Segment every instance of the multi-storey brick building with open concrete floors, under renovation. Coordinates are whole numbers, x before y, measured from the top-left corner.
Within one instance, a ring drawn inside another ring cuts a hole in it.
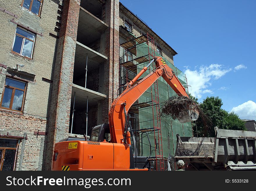
[[[148,32],[171,65],[177,54],[118,0],[0,0],[0,10],[0,170],[50,170],[56,142],[108,123],[120,44]]]

